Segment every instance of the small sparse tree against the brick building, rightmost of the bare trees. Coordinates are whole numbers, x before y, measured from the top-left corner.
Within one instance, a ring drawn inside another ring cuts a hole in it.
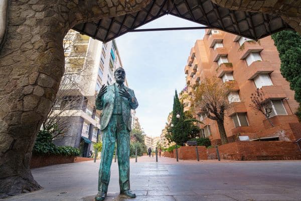
[[[251,101],[252,103],[250,104],[250,108],[255,112],[255,114],[258,111],[261,112],[268,120],[270,125],[274,127],[272,121],[270,120],[270,115],[273,112],[271,98],[265,97],[262,88],[257,88],[255,93],[251,93]]]

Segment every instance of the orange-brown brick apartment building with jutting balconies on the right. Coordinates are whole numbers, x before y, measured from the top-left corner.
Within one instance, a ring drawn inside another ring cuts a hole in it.
[[[253,41],[219,30],[206,30],[203,40],[192,47],[185,66],[184,93],[193,90],[205,77],[216,76],[221,82],[234,85],[228,94],[231,109],[226,111],[225,130],[229,142],[239,139],[295,141],[300,137],[301,125],[294,115],[298,103],[294,91],[280,74],[280,59],[270,36]],[[251,93],[262,89],[265,97],[272,98],[270,120],[251,108]],[[185,110],[189,101],[185,100]],[[199,125],[202,136],[209,137],[213,144],[220,144],[220,135],[215,121],[201,111],[194,111],[204,124]],[[240,137],[245,136],[245,137]]]

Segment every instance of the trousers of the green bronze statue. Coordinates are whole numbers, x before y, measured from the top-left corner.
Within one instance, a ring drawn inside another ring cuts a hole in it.
[[[129,131],[122,120],[122,115],[113,114],[107,128],[103,130],[98,191],[107,192],[108,190],[116,141],[120,191],[129,189]]]

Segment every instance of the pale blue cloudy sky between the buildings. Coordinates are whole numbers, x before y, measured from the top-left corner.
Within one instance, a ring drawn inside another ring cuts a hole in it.
[[[138,29],[199,26],[169,15]],[[116,39],[129,88],[139,103],[136,117],[146,135],[161,135],[173,110],[175,89],[185,87],[190,50],[204,34],[204,30],[136,32]]]

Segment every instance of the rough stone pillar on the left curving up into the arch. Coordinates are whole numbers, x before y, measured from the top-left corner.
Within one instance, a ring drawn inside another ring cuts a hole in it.
[[[0,49],[0,198],[41,188],[29,163],[36,132],[64,73],[62,44],[67,31],[81,23],[140,11],[154,1],[9,1]]]

